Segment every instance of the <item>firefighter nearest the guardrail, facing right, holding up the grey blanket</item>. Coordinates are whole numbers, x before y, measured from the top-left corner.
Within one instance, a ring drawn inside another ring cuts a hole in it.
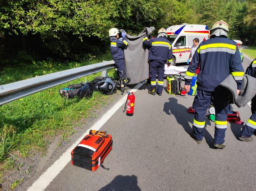
[[[128,46],[127,38],[125,37],[125,33],[122,33],[123,40],[119,39],[119,30],[117,28],[111,28],[109,30],[110,37],[110,51],[115,61],[117,73],[119,79],[124,77],[124,83],[126,83],[126,70],[124,64],[124,47]]]

